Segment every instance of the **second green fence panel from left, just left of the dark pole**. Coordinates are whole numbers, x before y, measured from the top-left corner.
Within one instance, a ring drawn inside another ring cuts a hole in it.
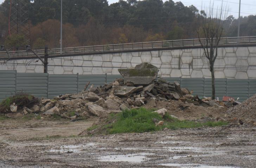
[[[47,73],[17,73],[17,93],[29,93],[35,97],[47,98]]]

